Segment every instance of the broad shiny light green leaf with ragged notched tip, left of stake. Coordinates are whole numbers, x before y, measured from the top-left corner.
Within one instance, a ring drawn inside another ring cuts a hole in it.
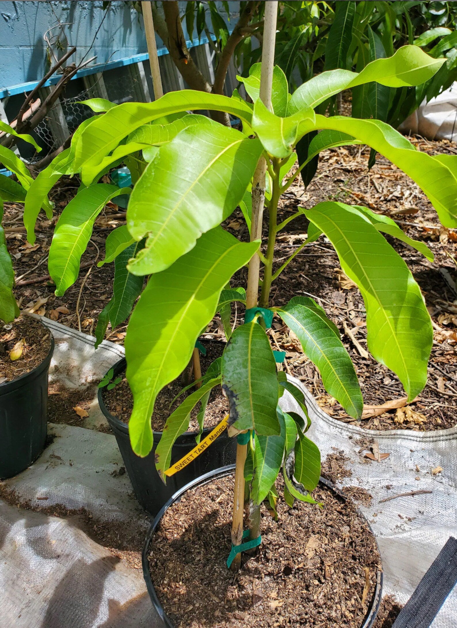
[[[129,232],[136,240],[148,235],[129,271],[168,268],[226,219],[243,198],[261,152],[260,142],[221,124],[189,127],[162,146],[129,200]]]

